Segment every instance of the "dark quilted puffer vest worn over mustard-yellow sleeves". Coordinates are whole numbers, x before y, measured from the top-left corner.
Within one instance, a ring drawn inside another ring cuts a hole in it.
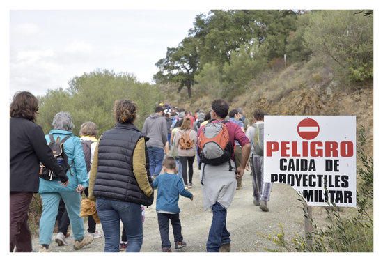
[[[102,134],[98,145],[98,167],[93,194],[150,206],[153,194],[143,194],[133,173],[133,151],[143,134],[134,125],[118,123]],[[153,188],[149,171],[149,157],[145,146],[146,173]]]

